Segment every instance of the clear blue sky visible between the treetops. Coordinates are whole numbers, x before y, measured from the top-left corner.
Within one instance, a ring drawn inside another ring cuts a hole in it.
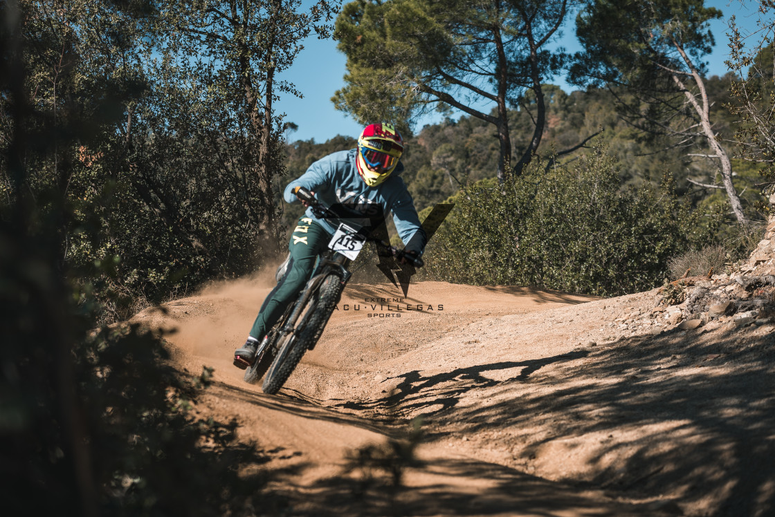
[[[302,2],[303,5],[311,3],[311,0]],[[736,15],[738,25],[743,29],[754,27],[758,2],[708,0],[705,5],[720,9],[724,13],[724,19],[711,23],[716,45],[713,53],[708,56],[711,75],[723,75],[728,71],[724,64],[729,52],[725,36],[728,30],[727,19],[730,15]],[[570,17],[571,24],[563,30],[563,39],[558,43],[570,51],[577,50],[578,47],[572,25],[573,19],[574,17]],[[298,125],[298,130],[291,132],[288,139],[290,141],[315,139],[315,142],[325,142],[335,135],[357,136],[362,126],[343,111],[334,109],[331,102],[334,92],[343,86],[346,57],[336,50],[336,42],[330,39],[321,40],[311,36],[304,42],[304,46],[305,49],[301,51],[293,66],[281,76],[284,80],[294,83],[298,91],[304,94],[304,98],[299,99],[291,94],[284,94],[275,104],[278,112],[284,112],[287,115],[288,122]],[[563,90],[570,91],[570,87],[561,78],[553,82],[563,87]],[[439,118],[431,115],[419,122],[418,128],[434,122],[439,122]]]

